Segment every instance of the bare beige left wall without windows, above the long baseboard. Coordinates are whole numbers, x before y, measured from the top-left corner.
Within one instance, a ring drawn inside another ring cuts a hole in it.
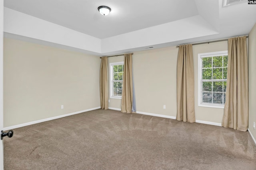
[[[4,127],[100,106],[99,68],[96,56],[5,38]]]

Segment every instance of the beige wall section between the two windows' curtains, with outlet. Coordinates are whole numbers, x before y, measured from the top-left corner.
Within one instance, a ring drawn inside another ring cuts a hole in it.
[[[177,54],[176,47],[134,53],[137,111],[176,116]]]

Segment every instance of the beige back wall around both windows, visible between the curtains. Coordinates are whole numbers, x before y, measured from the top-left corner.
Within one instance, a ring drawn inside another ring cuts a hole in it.
[[[198,106],[198,53],[228,50],[227,41],[193,46],[196,120],[221,123],[223,109]],[[176,116],[176,64],[178,48],[134,52],[134,85],[138,112]],[[110,57],[109,62],[123,61]],[[163,109],[166,105],[166,109]],[[110,107],[121,108],[121,100],[110,99]]]

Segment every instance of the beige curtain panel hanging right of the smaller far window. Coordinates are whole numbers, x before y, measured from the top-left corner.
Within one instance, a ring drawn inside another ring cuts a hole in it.
[[[124,75],[123,75],[121,112],[132,113],[132,102],[133,102],[132,54],[124,54]]]

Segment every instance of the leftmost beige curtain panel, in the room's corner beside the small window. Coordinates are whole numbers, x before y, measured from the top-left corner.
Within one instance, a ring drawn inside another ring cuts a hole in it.
[[[108,109],[108,57],[100,63],[100,108]]]

